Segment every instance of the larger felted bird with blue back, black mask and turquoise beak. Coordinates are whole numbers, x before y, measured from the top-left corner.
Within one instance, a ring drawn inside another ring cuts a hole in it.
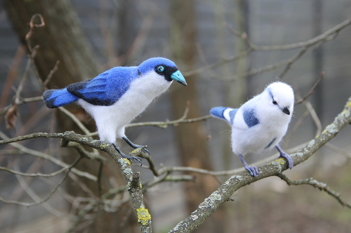
[[[113,144],[123,157],[136,159],[141,165],[139,157],[127,156],[117,147],[116,138],[123,138],[133,148],[142,147],[125,136],[124,128],[167,90],[172,80],[187,85],[173,61],[153,57],[139,66],[117,66],[64,89],[47,90],[43,97],[49,108],[77,101],[95,119],[100,139]]]

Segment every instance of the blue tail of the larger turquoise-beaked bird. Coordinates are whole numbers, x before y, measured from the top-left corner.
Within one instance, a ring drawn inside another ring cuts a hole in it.
[[[43,93],[45,104],[49,108],[61,107],[78,100],[78,97],[64,89],[51,89]]]

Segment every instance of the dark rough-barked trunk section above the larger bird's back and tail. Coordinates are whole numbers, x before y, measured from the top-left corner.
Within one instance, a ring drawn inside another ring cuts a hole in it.
[[[44,80],[57,60],[59,69],[54,73],[49,87],[65,85],[95,77],[98,68],[85,41],[78,17],[69,0],[1,0],[20,42],[27,45],[26,34],[32,16],[40,13],[44,27],[35,28],[30,45],[39,45],[35,64]]]

